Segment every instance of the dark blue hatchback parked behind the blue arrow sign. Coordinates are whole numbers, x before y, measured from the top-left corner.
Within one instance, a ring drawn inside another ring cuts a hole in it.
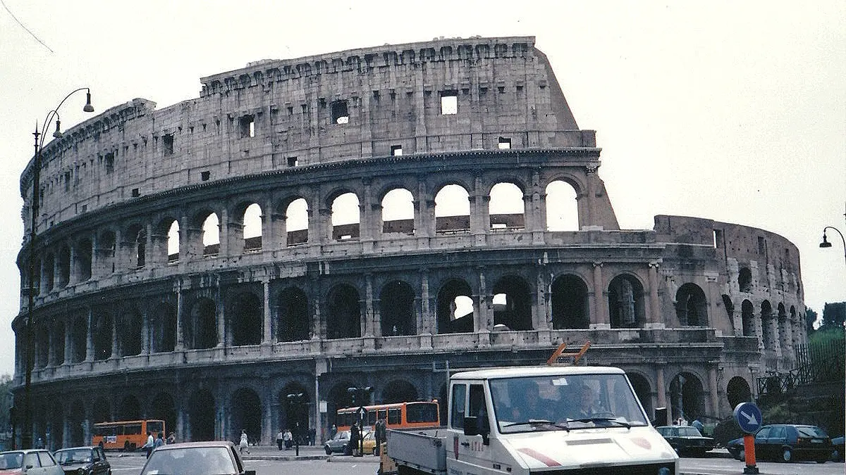
[[[729,440],[728,452],[744,460],[744,440]],[[825,463],[832,456],[832,440],[826,431],[814,425],[770,424],[755,433],[755,459],[813,460]]]

